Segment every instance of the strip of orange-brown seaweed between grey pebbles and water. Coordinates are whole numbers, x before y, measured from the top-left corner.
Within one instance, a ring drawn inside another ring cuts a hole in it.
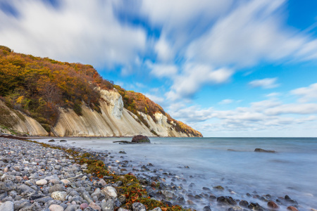
[[[152,200],[148,194],[147,191],[142,187],[137,177],[135,177],[133,174],[125,174],[122,176],[119,176],[117,174],[113,174],[112,172],[109,172],[106,168],[106,165],[102,160],[98,160],[94,155],[90,153],[80,153],[78,151],[74,151],[72,149],[66,149],[64,147],[60,146],[51,146],[47,143],[39,143],[37,141],[30,141],[30,140],[24,140],[29,141],[32,143],[38,143],[39,145],[46,147],[46,148],[54,148],[61,151],[65,151],[69,155],[73,156],[73,159],[75,159],[75,162],[77,162],[80,165],[87,165],[87,174],[92,174],[92,177],[95,177],[95,179],[103,178],[104,176],[112,176],[113,179],[111,180],[111,183],[115,183],[116,181],[122,181],[123,185],[116,188],[119,195],[124,195],[126,198],[126,203],[123,205],[128,210],[132,210],[132,204],[133,203],[142,203],[145,207],[147,207],[147,210],[153,210],[155,207],[161,207],[163,211],[182,211],[185,210],[179,205],[175,205],[172,207],[169,207],[166,203],[163,203],[159,200]]]

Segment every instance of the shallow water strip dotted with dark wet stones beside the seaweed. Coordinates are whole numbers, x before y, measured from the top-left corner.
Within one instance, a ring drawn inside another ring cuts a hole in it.
[[[45,137],[46,138],[46,137]],[[58,137],[61,139],[62,137]],[[45,143],[40,143],[44,144]],[[65,144],[65,143],[63,143]],[[52,145],[53,148],[55,147],[62,147],[62,148],[71,148],[72,151],[82,151],[82,152],[89,152],[94,155],[102,155],[101,159],[104,160],[104,163],[108,165],[108,169],[111,171],[115,171],[117,175],[116,177],[120,177],[121,175],[126,175],[129,172],[137,175],[137,181],[139,182],[140,186],[146,189],[145,194],[150,198],[154,199],[154,203],[158,202],[157,200],[161,200],[162,203],[165,205],[169,205],[168,210],[171,209],[173,205],[182,205],[184,208],[188,209],[197,209],[197,210],[209,210],[212,207],[212,210],[239,210],[241,209],[253,209],[253,210],[268,210],[270,207],[268,206],[261,206],[256,201],[263,200],[265,203],[269,201],[276,201],[281,207],[284,207],[286,210],[287,205],[292,204],[294,207],[298,207],[295,204],[295,201],[285,198],[274,198],[274,196],[266,195],[266,196],[259,196],[257,193],[251,193],[250,197],[245,200],[238,200],[235,198],[234,192],[232,191],[232,196],[223,195],[223,191],[221,190],[222,187],[204,187],[199,193],[192,192],[187,186],[191,186],[194,184],[188,184],[189,181],[185,181],[185,179],[178,177],[173,172],[169,170],[157,170],[156,167],[151,165],[151,163],[142,165],[137,167],[135,162],[129,160],[129,155],[125,155],[124,152],[104,152],[101,153],[100,151],[94,151],[89,149],[82,149],[82,148],[75,148],[73,146],[61,146],[58,144]],[[117,162],[119,160],[123,160]],[[113,172],[112,172],[113,173]],[[182,182],[184,186],[178,186],[178,182]],[[278,199],[279,201],[277,201]],[[254,202],[254,203],[252,203]],[[163,205],[164,206],[164,205]],[[251,207],[249,207],[251,206]],[[292,207],[293,207],[292,206]],[[300,205],[299,205],[300,207]]]

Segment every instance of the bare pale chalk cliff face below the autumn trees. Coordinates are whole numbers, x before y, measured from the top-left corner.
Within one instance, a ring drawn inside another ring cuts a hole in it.
[[[48,133],[34,119],[20,113],[20,111],[7,108],[0,101],[1,110],[6,110],[6,116],[11,119],[12,129],[18,132],[46,136]],[[101,90],[100,111],[82,106],[82,115],[77,115],[74,110],[59,108],[58,121],[51,129],[55,136],[134,136],[138,134],[147,136],[176,136],[187,137],[191,134],[177,132],[173,123],[168,124],[167,117],[155,113],[154,121],[149,115],[139,112],[149,127],[139,121],[138,117],[123,108],[123,100],[117,91]],[[18,113],[19,115],[17,115]]]

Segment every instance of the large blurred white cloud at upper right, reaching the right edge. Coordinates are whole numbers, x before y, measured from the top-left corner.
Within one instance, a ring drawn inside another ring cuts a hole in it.
[[[262,60],[316,59],[317,40],[282,27],[278,1],[247,1],[223,16],[199,39],[187,57],[213,65],[256,65]]]

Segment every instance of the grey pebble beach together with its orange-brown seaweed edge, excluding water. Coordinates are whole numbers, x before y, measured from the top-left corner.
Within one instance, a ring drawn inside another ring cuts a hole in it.
[[[49,146],[35,141],[0,140],[3,149],[1,161],[4,161],[1,162],[0,171],[1,211],[124,211],[132,207],[140,211],[145,207],[149,210],[154,207],[182,210],[181,207],[168,207],[149,198],[133,174],[108,172],[101,161],[106,155],[101,153]],[[34,155],[37,155],[36,158]]]

